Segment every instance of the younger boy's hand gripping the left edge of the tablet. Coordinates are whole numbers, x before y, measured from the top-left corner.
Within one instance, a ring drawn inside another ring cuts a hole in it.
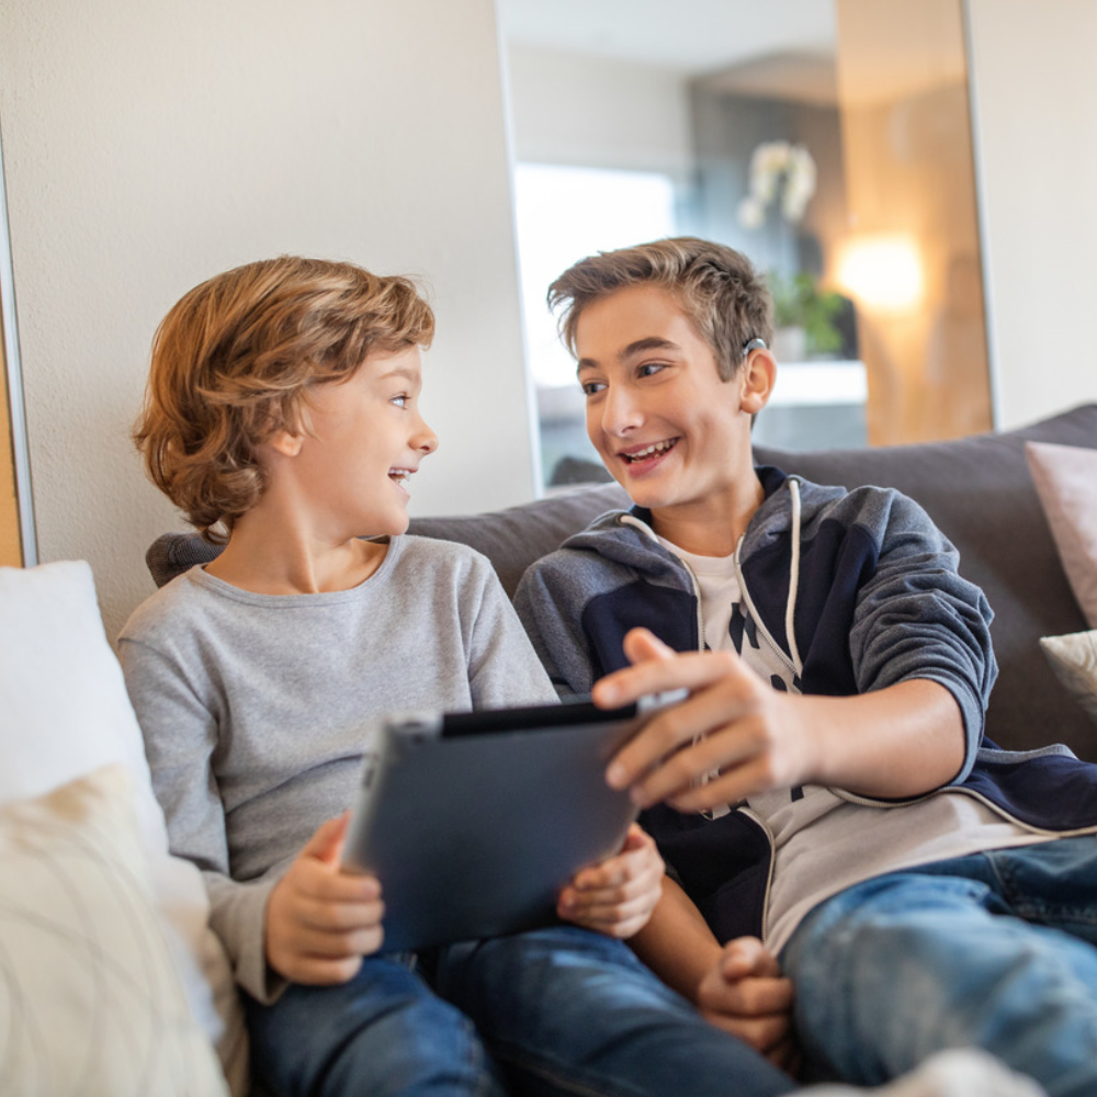
[[[339,868],[344,813],[317,828],[267,903],[267,961],[294,983],[346,983],[381,948],[381,884]]]

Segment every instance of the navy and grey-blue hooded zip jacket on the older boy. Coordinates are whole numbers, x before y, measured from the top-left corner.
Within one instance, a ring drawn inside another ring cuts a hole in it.
[[[939,682],[955,698],[966,737],[952,792],[1029,829],[1097,829],[1097,767],[1063,746],[1011,753],[984,740],[997,675],[991,608],[959,575],[959,554],[925,511],[892,489],[847,491],[778,468],[757,473],[766,498],[736,550],[742,642],[769,645],[802,693]],[[522,578],[514,604],[562,694],[588,693],[623,667],[630,629],[647,627],[680,652],[703,646],[693,576],[649,520],[640,508],[603,514]],[[753,813],[708,819],[657,806],[643,823],[719,940],[761,935],[772,840]]]

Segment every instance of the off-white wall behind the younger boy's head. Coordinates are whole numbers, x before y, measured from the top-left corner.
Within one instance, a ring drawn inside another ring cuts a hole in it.
[[[150,337],[240,262],[426,276],[412,512],[531,496],[491,0],[3,0],[0,125],[39,558],[91,562],[111,636],[182,525],[127,439]]]

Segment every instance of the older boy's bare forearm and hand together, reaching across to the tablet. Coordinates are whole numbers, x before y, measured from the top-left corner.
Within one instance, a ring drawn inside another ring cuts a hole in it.
[[[689,691],[657,712],[607,769],[609,783],[629,788],[641,807],[666,801],[692,812],[803,784],[918,796],[964,764],[960,706],[929,679],[856,697],[803,695],[772,689],[734,652],[675,655],[642,629],[625,637],[625,653],[633,666],[596,683],[599,704]]]

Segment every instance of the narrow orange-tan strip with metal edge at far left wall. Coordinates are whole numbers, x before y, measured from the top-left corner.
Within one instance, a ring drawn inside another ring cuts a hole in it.
[[[0,566],[31,566],[37,562],[29,470],[0,150]]]

